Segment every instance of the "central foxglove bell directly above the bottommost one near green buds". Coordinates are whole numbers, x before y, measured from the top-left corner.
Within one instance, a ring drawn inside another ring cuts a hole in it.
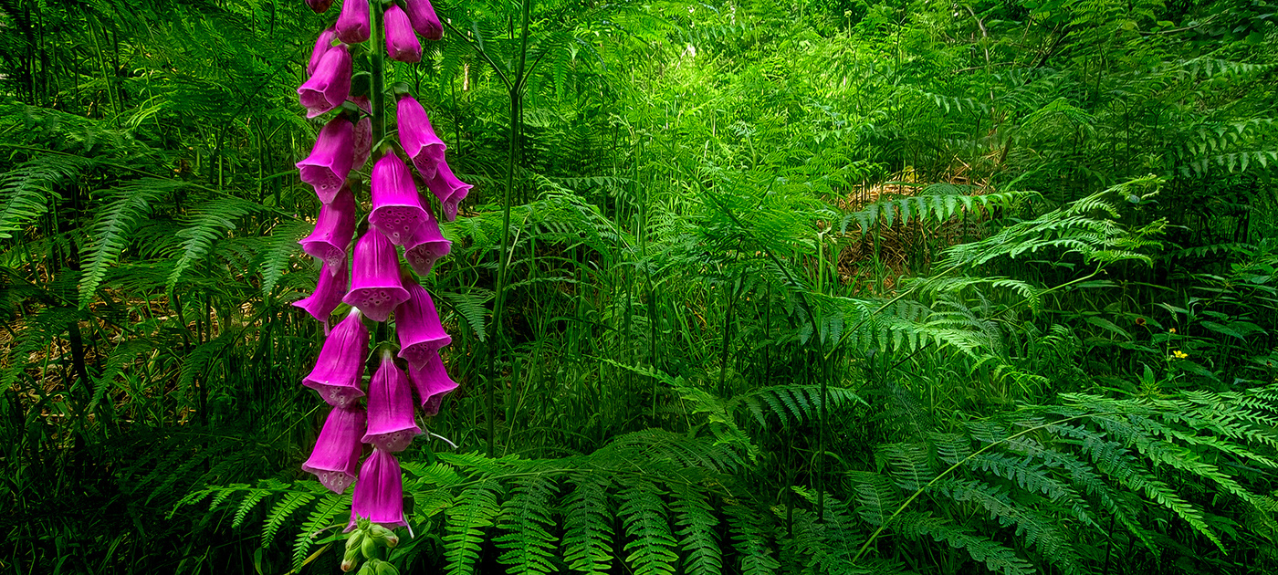
[[[413,391],[408,376],[390,350],[382,351],[377,373],[368,382],[368,431],[360,440],[378,450],[404,451],[422,428],[413,420]]]

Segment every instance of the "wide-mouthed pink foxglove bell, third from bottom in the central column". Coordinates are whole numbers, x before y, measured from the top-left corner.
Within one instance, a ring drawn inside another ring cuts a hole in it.
[[[350,293],[343,302],[359,308],[374,322],[385,322],[391,310],[408,299],[408,290],[400,282],[395,245],[377,230],[368,230],[355,241],[350,264]]]

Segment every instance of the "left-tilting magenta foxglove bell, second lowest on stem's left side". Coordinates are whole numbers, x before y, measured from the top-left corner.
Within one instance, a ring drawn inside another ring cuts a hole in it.
[[[328,334],[314,369],[302,379],[302,385],[318,391],[328,405],[346,408],[364,396],[359,379],[364,376],[367,356],[368,328],[359,321],[359,310],[351,309]]]

